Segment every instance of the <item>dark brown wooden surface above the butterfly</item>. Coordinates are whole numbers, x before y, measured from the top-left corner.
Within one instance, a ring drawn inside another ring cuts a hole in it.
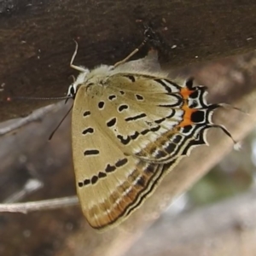
[[[69,67],[73,39],[77,65],[113,64],[142,42],[142,23],[152,23],[171,66],[181,67],[255,49],[255,12],[256,3],[245,0],[0,1],[0,120],[48,104],[6,102],[7,96],[67,92],[76,74]]]

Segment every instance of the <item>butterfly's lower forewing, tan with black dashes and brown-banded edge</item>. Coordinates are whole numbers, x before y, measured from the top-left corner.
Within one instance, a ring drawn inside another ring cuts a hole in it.
[[[100,229],[139,206],[162,176],[163,166],[124,154],[106,131],[107,113],[85,92],[81,86],[73,106],[73,162],[84,215]]]

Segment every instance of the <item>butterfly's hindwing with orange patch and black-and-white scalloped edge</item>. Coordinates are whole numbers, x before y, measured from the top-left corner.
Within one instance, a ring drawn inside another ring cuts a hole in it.
[[[107,132],[126,154],[141,160],[166,164],[189,154],[189,149],[207,143],[212,111],[203,86],[193,81],[176,84],[170,79],[146,75],[116,74],[108,79]]]

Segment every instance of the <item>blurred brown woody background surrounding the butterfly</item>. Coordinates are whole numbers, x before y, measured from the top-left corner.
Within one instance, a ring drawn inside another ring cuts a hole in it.
[[[256,3],[247,0],[0,0],[0,208],[76,195],[70,115],[48,140],[69,106],[6,101],[64,96],[77,75],[69,67],[73,39],[77,65],[113,65],[141,44],[142,25],[151,24],[170,78],[192,76],[208,87],[208,102],[249,113],[218,109],[213,120],[241,150],[212,129],[209,147],[195,148],[113,230],[92,230],[79,205],[1,212],[0,255],[254,256],[255,12]],[[135,58],[146,53],[147,47]]]

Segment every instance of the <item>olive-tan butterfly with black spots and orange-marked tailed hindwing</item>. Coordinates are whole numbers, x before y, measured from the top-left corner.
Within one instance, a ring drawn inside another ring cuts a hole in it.
[[[192,148],[207,144],[209,128],[231,135],[212,123],[222,104],[208,104],[206,87],[193,79],[174,81],[159,67],[150,70],[155,54],[89,70],[73,65],[77,50],[78,44],[70,66],[79,76],[67,92],[74,99],[76,187],[90,226],[103,230],[140,207]]]

